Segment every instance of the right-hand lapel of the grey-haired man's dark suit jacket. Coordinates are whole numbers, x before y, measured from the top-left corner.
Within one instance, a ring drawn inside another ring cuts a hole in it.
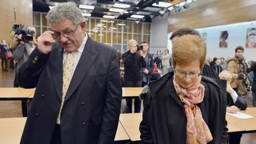
[[[97,56],[98,52],[95,51],[94,41],[88,37],[87,43],[85,44],[85,49],[82,52],[78,65],[76,66],[75,73],[72,76],[71,84],[69,84],[64,103],[69,97],[71,97],[75,89],[78,88]]]

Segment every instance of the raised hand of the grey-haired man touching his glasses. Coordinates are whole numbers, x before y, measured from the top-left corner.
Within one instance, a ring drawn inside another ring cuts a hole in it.
[[[37,47],[41,53],[47,54],[52,52],[52,46],[53,43],[55,43],[52,34],[54,34],[53,31],[44,31],[44,33],[38,37]]]

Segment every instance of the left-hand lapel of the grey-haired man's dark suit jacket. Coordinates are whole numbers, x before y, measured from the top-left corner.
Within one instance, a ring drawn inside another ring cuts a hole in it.
[[[55,46],[53,46],[55,47]],[[59,99],[62,99],[62,69],[63,66],[63,49],[60,46],[53,48],[53,51],[50,55],[50,69],[52,72],[53,83],[57,92]]]

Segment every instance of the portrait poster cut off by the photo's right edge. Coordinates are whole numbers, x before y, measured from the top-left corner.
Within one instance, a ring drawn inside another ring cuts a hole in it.
[[[246,48],[256,48],[256,27],[247,29]]]

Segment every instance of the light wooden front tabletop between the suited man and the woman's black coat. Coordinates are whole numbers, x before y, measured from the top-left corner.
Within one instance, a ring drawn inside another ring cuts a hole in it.
[[[140,121],[142,121],[142,113],[120,114],[119,120],[130,140],[132,142],[139,141],[139,125]]]

